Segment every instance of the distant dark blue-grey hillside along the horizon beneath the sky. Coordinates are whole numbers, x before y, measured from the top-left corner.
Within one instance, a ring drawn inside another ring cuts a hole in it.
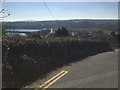
[[[118,30],[117,20],[89,20],[73,19],[59,21],[17,21],[2,22],[3,27],[7,29],[43,29],[66,27],[68,30]]]

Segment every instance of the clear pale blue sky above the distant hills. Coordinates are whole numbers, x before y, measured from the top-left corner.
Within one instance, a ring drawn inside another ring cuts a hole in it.
[[[118,2],[45,3],[53,16],[43,2],[4,2],[2,8],[8,10],[11,14],[9,17],[4,18],[4,21],[118,19]]]

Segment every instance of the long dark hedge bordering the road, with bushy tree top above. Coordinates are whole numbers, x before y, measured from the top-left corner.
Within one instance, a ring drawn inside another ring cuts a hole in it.
[[[111,51],[105,40],[87,40],[70,37],[58,30],[56,37],[3,37],[2,86],[21,88],[48,72],[85,57]]]

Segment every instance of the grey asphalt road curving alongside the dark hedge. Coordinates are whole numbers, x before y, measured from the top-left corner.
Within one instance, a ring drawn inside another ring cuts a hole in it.
[[[71,63],[27,87],[39,87],[60,70],[67,71],[67,74],[56,80],[49,88],[118,88],[118,50],[97,54]]]

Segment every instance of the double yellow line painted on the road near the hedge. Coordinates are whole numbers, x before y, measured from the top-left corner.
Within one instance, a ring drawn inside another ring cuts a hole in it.
[[[57,75],[53,76],[51,79],[46,81],[44,84],[38,86],[37,89],[35,89],[35,90],[39,90],[39,89],[40,90],[45,90],[46,88],[48,88],[49,86],[54,84],[57,80],[59,80],[61,77],[63,77],[67,73],[68,73],[68,71],[62,70],[60,73],[58,73]]]

